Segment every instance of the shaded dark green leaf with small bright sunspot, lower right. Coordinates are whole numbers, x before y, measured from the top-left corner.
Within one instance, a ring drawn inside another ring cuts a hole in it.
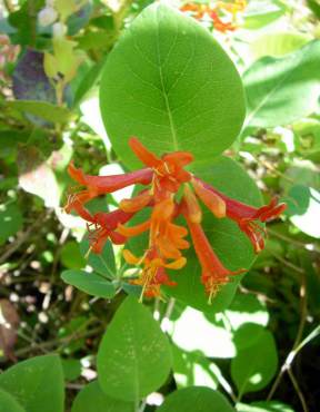
[[[272,334],[264,330],[254,344],[239,350],[231,361],[231,376],[239,394],[266,388],[278,367],[278,353]],[[239,396],[240,398],[240,396]]]

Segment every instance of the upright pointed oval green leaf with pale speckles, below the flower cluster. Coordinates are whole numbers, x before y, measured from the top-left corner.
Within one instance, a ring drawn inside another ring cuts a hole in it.
[[[127,297],[98,351],[98,376],[103,392],[138,402],[164,383],[171,363],[170,345],[159,324],[147,307],[134,297]]]

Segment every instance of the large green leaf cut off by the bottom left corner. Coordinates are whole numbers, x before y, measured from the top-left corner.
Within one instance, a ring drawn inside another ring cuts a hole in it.
[[[63,412],[64,379],[57,355],[32,357],[0,375],[0,388],[32,412]],[[7,411],[6,411],[7,412]]]

